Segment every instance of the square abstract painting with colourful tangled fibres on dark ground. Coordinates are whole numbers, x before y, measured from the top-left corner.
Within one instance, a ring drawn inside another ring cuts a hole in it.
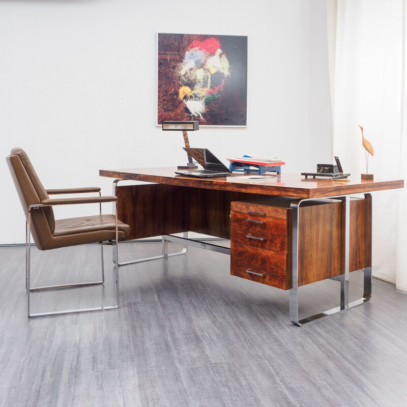
[[[246,126],[247,36],[158,34],[157,125]]]

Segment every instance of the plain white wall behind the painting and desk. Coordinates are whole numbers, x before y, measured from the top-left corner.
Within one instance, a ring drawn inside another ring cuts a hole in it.
[[[201,128],[192,146],[278,155],[285,172],[331,162],[325,12],[324,0],[4,0],[0,156],[22,147],[46,188],[109,195],[100,168],[183,162],[181,135],[155,126],[156,33],[175,32],[249,36],[248,127]],[[0,179],[0,244],[22,243],[4,159]]]

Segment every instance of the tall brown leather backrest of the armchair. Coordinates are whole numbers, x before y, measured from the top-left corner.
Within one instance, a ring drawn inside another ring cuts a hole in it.
[[[41,184],[34,167],[28,156],[20,148],[11,150],[10,156],[6,157],[7,164],[16,187],[18,197],[28,220],[28,207],[35,203],[41,203],[49,196]],[[55,229],[55,218],[51,207],[35,209],[32,213],[31,231],[34,242],[40,250],[46,246]]]

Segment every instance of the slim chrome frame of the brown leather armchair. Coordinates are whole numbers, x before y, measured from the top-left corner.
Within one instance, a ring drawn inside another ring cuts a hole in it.
[[[100,195],[100,192],[99,192]],[[115,203],[117,206],[117,202]],[[68,205],[75,205],[75,204],[68,204]],[[42,291],[42,290],[48,290],[48,289],[61,289],[61,288],[73,288],[73,287],[83,287],[83,286],[89,286],[89,285],[98,285],[98,284],[103,284],[104,283],[104,259],[103,259],[103,245],[100,244],[100,249],[101,249],[101,261],[102,261],[102,281],[92,281],[92,282],[86,282],[86,283],[74,283],[74,284],[61,284],[61,285],[48,285],[48,286],[42,286],[42,287],[31,287],[30,282],[31,282],[31,211],[42,208],[42,207],[47,207],[47,206],[52,206],[51,204],[49,205],[44,205],[42,203],[40,204],[34,204],[30,205],[28,207],[28,221],[25,223],[25,288],[27,290],[27,315],[28,318],[34,318],[34,317],[39,317],[39,316],[50,316],[50,315],[61,315],[61,314],[71,314],[71,313],[79,313],[79,312],[89,312],[89,311],[100,311],[104,309],[114,309],[114,308],[119,308],[119,268],[117,265],[117,262],[114,266],[114,274],[115,274],[115,285],[116,285],[116,304],[115,305],[109,305],[109,306],[102,306],[102,307],[93,307],[93,308],[82,308],[82,309],[72,309],[72,310],[63,310],[63,311],[51,311],[51,312],[37,312],[37,313],[31,313],[30,311],[30,293],[33,291]],[[100,213],[102,213],[102,208],[100,204]],[[118,241],[119,241],[119,229],[118,229],[118,217],[117,217],[117,211],[115,211],[115,216],[114,216],[114,221],[115,221],[115,241],[112,241],[111,244],[113,246],[113,257],[115,256],[117,258],[118,256]]]

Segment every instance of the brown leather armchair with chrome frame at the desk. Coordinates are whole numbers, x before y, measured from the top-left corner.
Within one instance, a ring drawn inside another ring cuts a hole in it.
[[[117,218],[117,197],[100,196],[100,188],[70,188],[70,189],[48,189],[46,190],[39,180],[34,167],[20,148],[11,150],[6,157],[11,176],[16,187],[18,197],[25,214],[26,219],[26,239],[25,239],[25,280],[27,290],[27,309],[28,317],[67,314],[73,312],[97,311],[101,309],[119,307],[119,273],[118,273],[118,241],[124,239],[130,233],[130,226],[121,222]],[[50,199],[52,194],[70,194],[70,193],[89,193],[98,192],[99,196],[94,197],[74,197],[74,198],[54,198]],[[52,207],[54,205],[73,205],[78,203],[100,203],[115,202],[115,215],[85,216],[69,219],[55,219]],[[102,258],[102,279],[101,281],[52,285],[43,287],[31,287],[31,236],[39,250],[50,250],[61,247],[82,245],[89,243],[108,242],[113,246],[114,272],[116,279],[116,299],[117,304],[111,306],[101,306],[97,308],[85,308],[65,311],[52,311],[31,313],[30,312],[30,293],[33,291],[78,287],[84,285],[95,285],[104,283],[103,267],[103,246],[101,246]]]

